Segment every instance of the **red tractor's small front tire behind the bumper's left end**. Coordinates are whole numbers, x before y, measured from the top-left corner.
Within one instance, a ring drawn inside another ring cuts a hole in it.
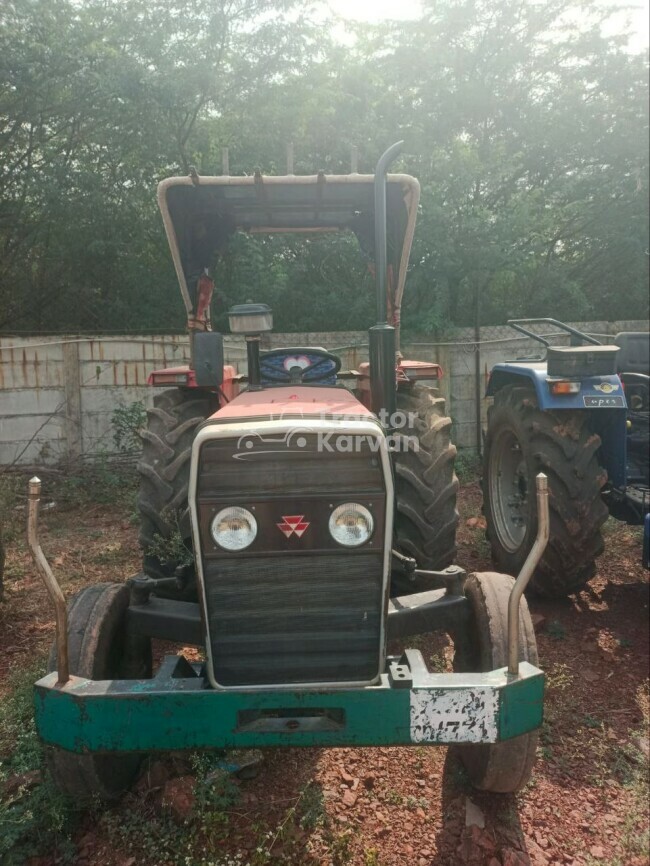
[[[128,635],[124,624],[129,606],[126,584],[88,586],[68,605],[70,673],[89,680],[148,679],[151,640]],[[48,672],[56,670],[56,645]],[[143,756],[78,755],[48,746],[45,760],[56,787],[79,804],[113,802],[131,785]]]

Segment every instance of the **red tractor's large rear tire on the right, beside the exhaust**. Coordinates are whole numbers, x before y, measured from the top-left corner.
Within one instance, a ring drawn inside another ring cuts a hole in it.
[[[440,570],[454,561],[458,511],[456,447],[451,443],[451,418],[437,389],[416,383],[398,390],[397,412],[406,426],[396,431],[395,542],[418,568]],[[429,588],[394,578],[396,592]]]

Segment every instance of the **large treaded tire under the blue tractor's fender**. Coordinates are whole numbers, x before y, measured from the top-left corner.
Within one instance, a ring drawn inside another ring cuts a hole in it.
[[[561,598],[594,576],[607,508],[601,490],[600,438],[587,413],[545,410],[534,390],[512,385],[488,410],[483,458],[483,509],[494,562],[518,574],[537,534],[535,476],[548,477],[550,538],[530,581],[533,593]]]

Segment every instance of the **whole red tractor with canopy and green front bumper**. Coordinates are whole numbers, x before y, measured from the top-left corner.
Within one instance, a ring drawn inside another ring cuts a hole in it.
[[[144,573],[90,586],[57,610],[36,723],[56,784],[114,799],[139,756],[173,749],[453,744],[479,788],[525,785],[544,675],[525,584],[451,565],[455,449],[435,364],[404,361],[396,337],[419,186],[386,176],[183,177],[159,201],[191,334],[191,364],[158,370],[140,464]],[[387,229],[388,226],[388,229]],[[320,348],[260,351],[264,304],[230,310],[245,377],[210,329],[209,276],[236,231],[353,231],[374,260],[370,363],[341,379]],[[397,362],[396,362],[397,358]],[[169,387],[173,386],[173,387]],[[401,593],[401,594],[399,594]],[[453,673],[390,641],[451,634]],[[151,640],[194,645],[152,669]]]

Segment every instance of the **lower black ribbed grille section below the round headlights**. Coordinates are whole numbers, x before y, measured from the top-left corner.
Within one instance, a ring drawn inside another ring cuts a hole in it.
[[[370,682],[378,673],[382,555],[210,560],[212,662],[223,686]]]

